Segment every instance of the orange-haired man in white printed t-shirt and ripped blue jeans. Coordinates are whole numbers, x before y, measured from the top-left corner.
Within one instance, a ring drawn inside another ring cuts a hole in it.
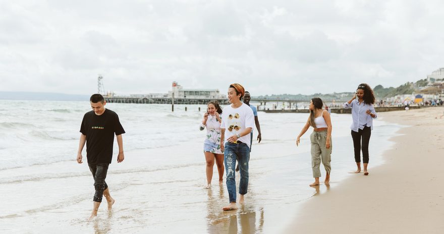
[[[248,161],[250,160],[250,133],[254,127],[254,114],[250,106],[242,103],[245,89],[240,84],[231,84],[228,100],[231,105],[224,108],[220,124],[220,146],[224,151],[227,173],[227,190],[230,204],[223,210],[237,209],[236,205],[236,160],[239,163],[241,180],[239,182],[239,202],[244,202],[248,189]],[[227,131],[226,131],[227,130]]]

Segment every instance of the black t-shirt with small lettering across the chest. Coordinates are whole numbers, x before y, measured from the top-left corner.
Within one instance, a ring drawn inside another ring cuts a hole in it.
[[[86,158],[89,164],[111,163],[114,134],[125,133],[116,112],[105,109],[101,115],[93,110],[83,116],[80,132],[86,135]]]

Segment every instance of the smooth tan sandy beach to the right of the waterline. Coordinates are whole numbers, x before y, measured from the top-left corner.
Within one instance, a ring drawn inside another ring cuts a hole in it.
[[[385,163],[373,166],[370,148],[368,176],[354,174],[314,196],[284,232],[444,233],[444,118],[435,119],[443,111],[431,107],[379,113],[379,120],[407,126],[391,138],[395,145],[383,153]]]

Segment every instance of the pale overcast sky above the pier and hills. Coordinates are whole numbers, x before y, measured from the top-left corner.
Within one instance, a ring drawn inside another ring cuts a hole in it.
[[[444,67],[444,2],[0,0],[0,91],[253,96],[397,87]]]

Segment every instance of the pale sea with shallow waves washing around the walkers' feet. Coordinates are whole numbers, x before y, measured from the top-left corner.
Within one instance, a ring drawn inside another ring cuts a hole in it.
[[[262,141],[252,145],[246,202],[222,211],[228,192],[215,166],[212,187],[205,189],[199,125],[206,105],[175,105],[174,112],[167,104],[105,107],[118,113],[126,131],[125,160],[117,163],[115,142],[106,182],[116,203],[112,211],[103,204],[88,221],[94,181],[76,156],[89,102],[0,100],[0,233],[276,233],[305,212],[301,204],[358,176],[350,114],[331,114],[331,182],[312,188],[312,130],[295,144],[308,114],[259,111]],[[403,127],[374,121],[370,171],[384,163],[383,152]],[[86,162],[85,149],[83,156]]]

